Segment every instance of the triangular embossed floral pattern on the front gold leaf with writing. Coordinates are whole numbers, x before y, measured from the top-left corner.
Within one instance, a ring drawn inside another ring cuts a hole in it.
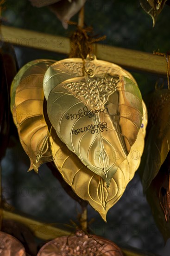
[[[107,102],[107,98],[112,94],[120,81],[118,75],[98,74],[89,77],[85,74],[85,79],[63,84],[72,94],[82,98],[93,111],[99,111]]]

